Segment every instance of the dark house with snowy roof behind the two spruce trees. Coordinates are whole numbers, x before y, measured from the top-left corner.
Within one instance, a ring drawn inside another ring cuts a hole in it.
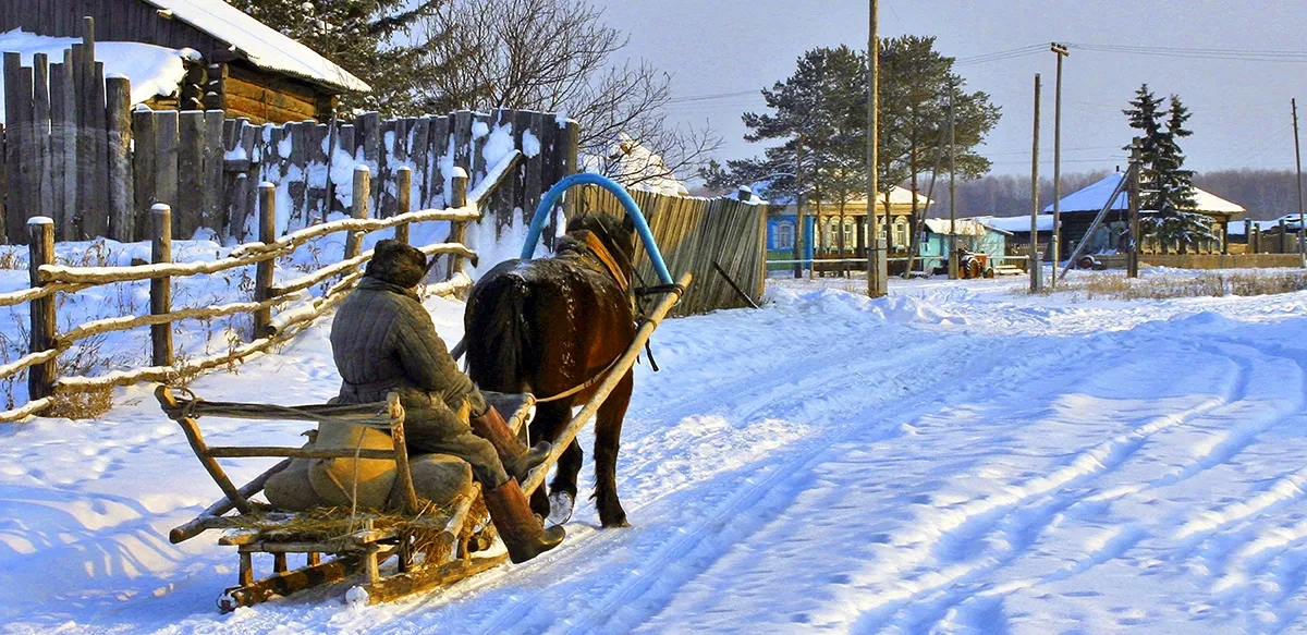
[[[1115,172],[1104,176],[1097,183],[1093,183],[1084,189],[1064,196],[1060,201],[1061,206],[1061,255],[1069,256],[1070,252],[1080,244],[1080,240],[1089,231],[1090,225],[1094,218],[1104,206],[1107,206],[1107,199],[1116,191],[1116,186],[1120,184],[1121,179],[1125,178],[1124,172]],[[1179,253],[1196,252],[1196,253],[1226,253],[1229,252],[1229,236],[1226,227],[1231,218],[1244,214],[1247,210],[1235,203],[1227,201],[1212,192],[1206,192],[1200,188],[1193,188],[1195,205],[1189,212],[1197,212],[1210,218],[1210,230],[1216,235],[1214,240],[1200,240],[1200,243],[1193,247],[1185,247],[1179,244],[1162,244],[1155,238],[1145,238],[1140,244],[1141,251],[1145,253]],[[1044,214],[1052,214],[1053,206],[1047,205],[1043,209]],[[1142,216],[1148,216],[1151,212],[1141,210]],[[1026,221],[1029,223],[1029,220]],[[1029,225],[1027,225],[1029,227]],[[1029,233],[1029,229],[1026,230]],[[1121,192],[1111,201],[1111,206],[1107,216],[1103,217],[1102,223],[1094,230],[1094,234],[1089,238],[1089,246],[1086,247],[1087,253],[1104,253],[1124,251],[1129,240],[1129,196]]]

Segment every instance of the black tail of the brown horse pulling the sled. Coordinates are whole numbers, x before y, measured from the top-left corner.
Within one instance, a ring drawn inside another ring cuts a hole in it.
[[[488,391],[529,392],[524,367],[531,349],[524,307],[527,281],[508,273],[484,282],[469,298],[464,325],[468,374]]]

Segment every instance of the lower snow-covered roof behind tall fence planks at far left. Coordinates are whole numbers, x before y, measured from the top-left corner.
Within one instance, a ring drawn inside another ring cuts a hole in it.
[[[0,51],[18,52],[24,65],[31,65],[34,54],[46,54],[51,63],[63,63],[64,51],[81,43],[80,38],[51,38],[14,29],[0,33]],[[127,77],[132,82],[132,105],[156,95],[176,93],[186,77],[182,63],[195,51],[166,48],[141,42],[97,42],[95,60],[105,63],[105,76]],[[0,90],[0,123],[4,122],[4,91]]]

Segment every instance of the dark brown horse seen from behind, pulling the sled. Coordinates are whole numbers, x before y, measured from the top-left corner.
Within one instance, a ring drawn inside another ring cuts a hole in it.
[[[631,221],[582,216],[567,223],[554,257],[508,260],[472,289],[464,315],[468,374],[482,389],[531,392],[541,399],[583,385],[614,362],[635,338],[631,308]],[[617,448],[631,399],[631,372],[600,406],[595,422],[595,499],[604,527],[627,527],[617,499]],[[574,405],[593,387],[536,406],[531,443],[553,442]],[[574,440],[558,460],[550,495],[532,495],[537,513],[569,516],[576,499],[582,449]]]

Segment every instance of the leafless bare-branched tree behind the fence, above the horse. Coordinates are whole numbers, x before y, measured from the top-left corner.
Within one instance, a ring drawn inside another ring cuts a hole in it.
[[[670,76],[616,64],[626,37],[587,0],[452,0],[427,18],[452,37],[429,50],[448,72],[422,86],[433,108],[531,108],[580,124],[587,167],[627,186],[694,174],[721,138],[667,119]]]

